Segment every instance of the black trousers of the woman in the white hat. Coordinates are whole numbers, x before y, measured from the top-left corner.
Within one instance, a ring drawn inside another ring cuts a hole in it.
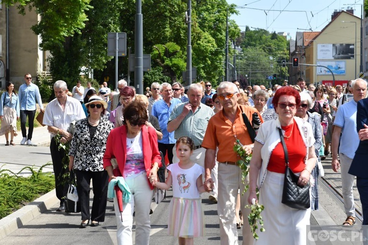
[[[82,220],[105,221],[107,204],[108,174],[106,171],[92,172],[74,170],[77,175],[77,192],[79,196]],[[92,179],[93,202],[92,212],[89,213],[89,192]]]

